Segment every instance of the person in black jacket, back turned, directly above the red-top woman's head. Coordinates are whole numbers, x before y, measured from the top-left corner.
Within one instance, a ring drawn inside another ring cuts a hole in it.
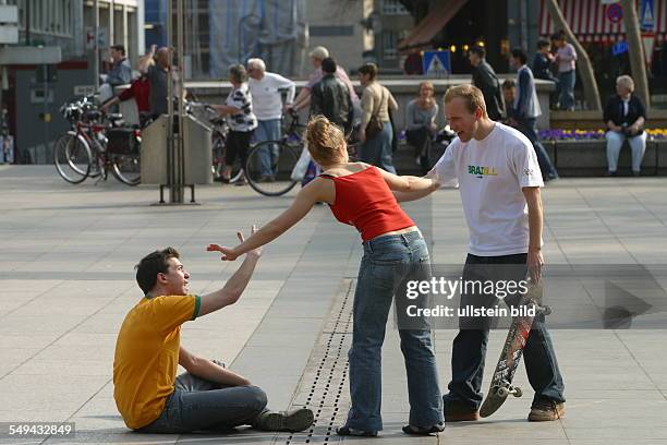
[[[352,124],[352,100],[348,85],[333,75],[336,69],[336,61],[330,57],[322,61],[324,76],[311,91],[311,116],[322,115],[348,134]]]

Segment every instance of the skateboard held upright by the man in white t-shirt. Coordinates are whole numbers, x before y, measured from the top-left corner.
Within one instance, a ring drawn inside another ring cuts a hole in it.
[[[523,348],[531,333],[533,320],[535,316],[548,315],[551,313],[549,306],[541,305],[542,294],[542,280],[537,285],[533,281],[529,281],[527,292],[521,297],[519,305],[535,308],[535,315],[525,314],[512,318],[512,324],[507,334],[502,352],[500,352],[500,359],[498,359],[496,371],[494,371],[488,393],[480,408],[480,416],[483,418],[489,417],[496,412],[510,394],[514,397],[521,397],[523,395],[520,387],[512,385],[512,380],[514,378],[517,368],[523,354]]]

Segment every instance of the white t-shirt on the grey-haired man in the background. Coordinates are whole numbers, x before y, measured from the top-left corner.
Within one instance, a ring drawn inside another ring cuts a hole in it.
[[[280,89],[288,89],[287,104],[294,101],[294,82],[280,74],[265,72],[260,81],[248,79],[247,85],[253,95],[253,111],[258,120],[280,119],[282,116]]]

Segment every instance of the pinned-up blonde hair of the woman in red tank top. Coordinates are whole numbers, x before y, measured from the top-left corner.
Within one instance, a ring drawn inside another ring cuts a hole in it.
[[[342,130],[329,122],[324,116],[315,116],[308,121],[305,139],[308,152],[320,166],[341,161],[341,147],[345,147]]]

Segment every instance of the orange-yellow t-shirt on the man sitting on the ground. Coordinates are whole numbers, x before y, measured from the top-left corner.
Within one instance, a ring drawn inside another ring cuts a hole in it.
[[[143,298],[125,315],[116,341],[113,398],[128,428],[160,417],[173,393],[181,325],[199,314],[197,296]]]

